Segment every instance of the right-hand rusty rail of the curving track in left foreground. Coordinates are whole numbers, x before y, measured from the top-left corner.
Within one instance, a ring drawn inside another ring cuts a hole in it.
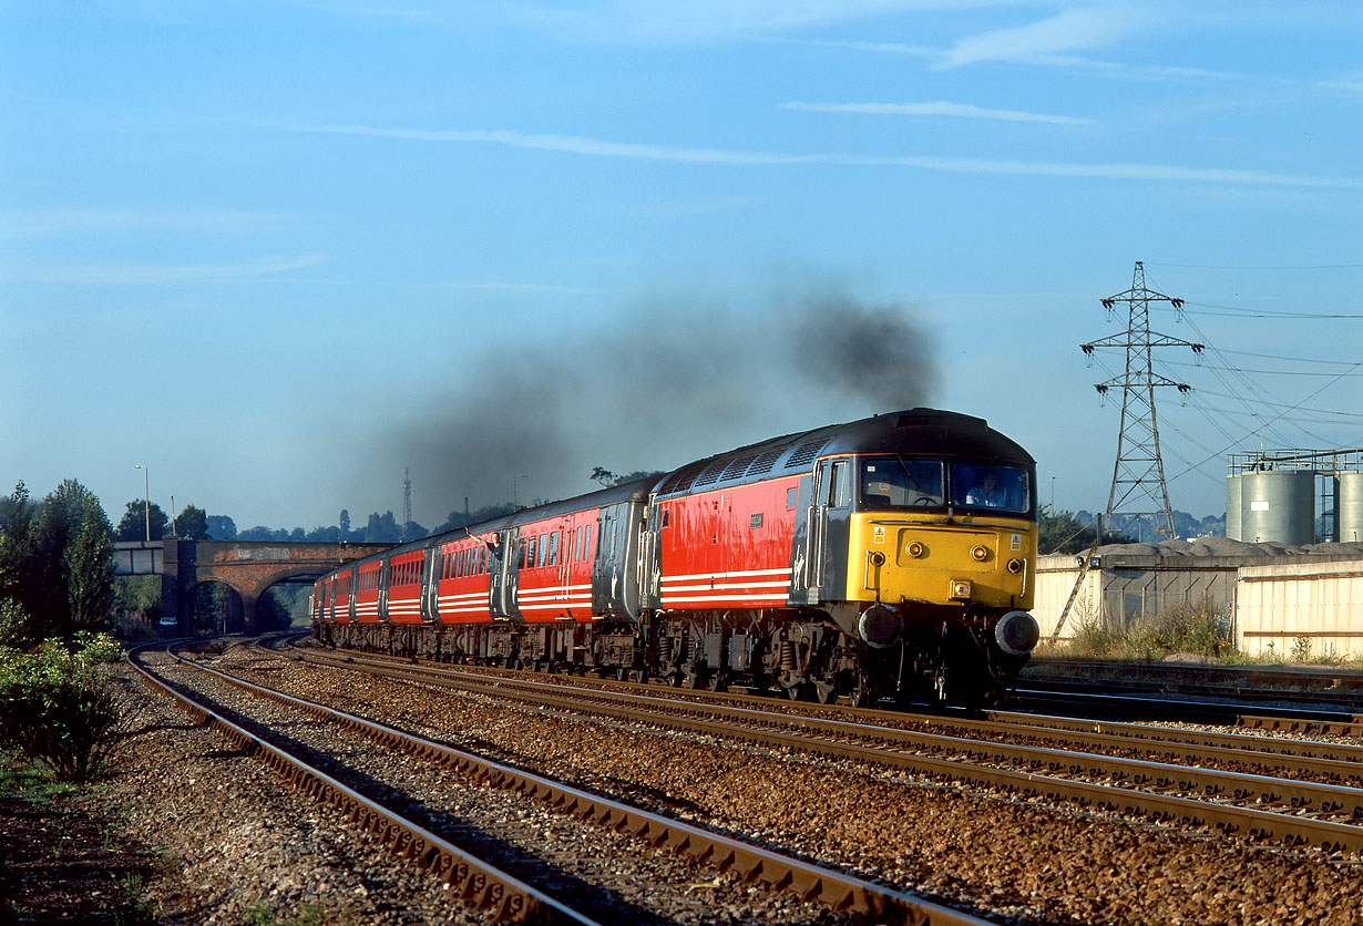
[[[229,675],[209,666],[196,669],[313,716],[335,720],[364,733],[375,742],[402,750],[468,775],[472,780],[537,798],[563,813],[623,832],[649,844],[686,852],[720,872],[733,872],[744,881],[761,881],[803,901],[818,900],[838,912],[849,912],[886,926],[988,926],[980,919],[864,878],[761,848],[740,839],[634,808],[526,772],[446,744],[397,730],[376,720],[307,701],[285,692]]]

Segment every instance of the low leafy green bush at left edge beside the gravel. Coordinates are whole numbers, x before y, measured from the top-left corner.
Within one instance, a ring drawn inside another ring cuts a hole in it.
[[[93,778],[113,746],[119,708],[104,663],[123,658],[108,633],[78,633],[72,652],[48,640],[0,650],[0,745],[20,749],[64,782]]]

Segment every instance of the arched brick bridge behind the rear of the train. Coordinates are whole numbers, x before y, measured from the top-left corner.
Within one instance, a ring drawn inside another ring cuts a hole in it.
[[[273,541],[162,541],[162,614],[188,626],[189,595],[221,581],[241,598],[245,630],[259,630],[256,605],[270,586],[318,579],[343,562],[387,550],[390,543],[281,543]],[[129,569],[131,571],[131,569]]]

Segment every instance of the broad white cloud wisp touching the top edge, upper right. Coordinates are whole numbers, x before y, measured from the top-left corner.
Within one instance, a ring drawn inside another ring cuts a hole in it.
[[[1028,61],[1101,48],[1126,35],[1141,20],[1122,5],[1065,10],[1050,19],[995,29],[960,39],[940,67],[954,68],[979,61]]]

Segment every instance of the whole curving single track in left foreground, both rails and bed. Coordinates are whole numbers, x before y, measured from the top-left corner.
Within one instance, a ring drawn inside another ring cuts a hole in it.
[[[549,859],[542,861],[544,843],[552,842],[545,840],[542,827],[526,836],[476,817],[472,805],[485,802],[489,787],[512,805],[537,802],[553,808],[564,825],[572,829],[564,837],[570,846],[564,855],[581,861],[583,850],[596,846],[615,859],[612,877],[616,878],[656,877],[656,866],[650,862],[622,876],[619,866],[631,855],[680,854],[711,869],[711,873],[735,880],[744,891],[758,885],[793,895],[796,906],[785,911],[781,916],[784,922],[825,922],[825,908],[853,919],[872,918],[883,923],[988,922],[864,878],[305,701],[209,666],[184,659],[173,667],[154,666],[151,659],[149,654],[136,656],[139,670],[150,684],[177,699],[188,697],[185,707],[199,719],[219,727],[239,748],[262,756],[305,793],[343,808],[357,825],[378,836],[390,851],[448,877],[461,895],[488,908],[497,922],[592,923],[597,922],[596,916],[601,922],[662,923],[672,922],[673,914],[688,912],[686,906],[694,904],[694,900],[682,897],[679,910],[669,912],[668,885],[658,884],[654,892],[658,908],[635,908],[613,896],[607,885],[592,884],[589,876],[571,872],[566,857],[549,852]],[[173,681],[168,675],[173,675]],[[195,694],[189,694],[191,690]],[[206,700],[213,704],[206,704]],[[395,753],[408,759],[394,763]],[[476,799],[470,798],[463,805],[450,803],[450,793],[469,793],[470,786],[477,791]],[[451,837],[451,833],[461,839]],[[612,850],[611,843],[622,839],[630,846]],[[469,843],[473,843],[473,850]],[[508,846],[519,847],[508,850]],[[483,852],[488,847],[496,850],[491,858]],[[657,851],[650,852],[647,847]],[[504,861],[507,858],[511,859],[510,866]],[[557,885],[557,893],[540,887],[540,882]],[[823,907],[806,910],[811,901]]]

